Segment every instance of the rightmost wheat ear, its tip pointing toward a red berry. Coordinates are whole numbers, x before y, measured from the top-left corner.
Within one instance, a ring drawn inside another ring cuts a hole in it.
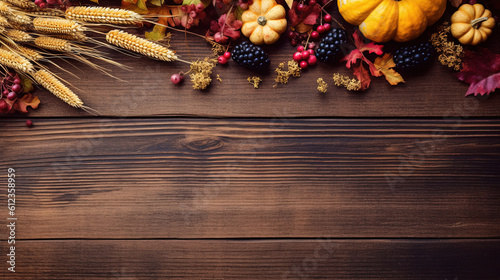
[[[106,34],[106,41],[115,46],[143,54],[153,59],[163,61],[180,60],[174,51],[121,30],[116,29],[109,31]]]

